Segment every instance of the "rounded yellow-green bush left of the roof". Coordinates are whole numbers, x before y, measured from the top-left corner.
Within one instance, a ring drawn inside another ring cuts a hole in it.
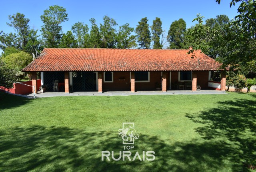
[[[22,70],[26,67],[30,62],[32,62],[32,55],[20,51],[16,53],[12,53],[5,58],[2,58],[2,61],[6,63],[6,66],[11,69]]]

